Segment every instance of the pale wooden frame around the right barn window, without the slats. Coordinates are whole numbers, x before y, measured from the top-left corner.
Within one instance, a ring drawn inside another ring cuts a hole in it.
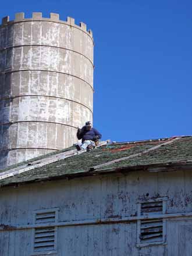
[[[163,215],[166,214],[166,202],[168,198],[167,197],[158,197],[158,198],[149,198],[148,200],[142,200],[137,202],[137,247],[145,247],[145,246],[159,246],[159,245],[166,245],[166,219],[163,218]],[[141,205],[143,203],[147,202],[159,202],[162,201],[162,213],[161,214],[142,214],[141,215]],[[162,215],[162,217],[161,217]],[[157,218],[157,216],[159,218]],[[146,218],[145,218],[146,217]],[[150,219],[162,219],[162,241],[153,241],[153,242],[146,242],[140,240],[140,234],[141,234],[141,221],[142,220],[150,220]]]

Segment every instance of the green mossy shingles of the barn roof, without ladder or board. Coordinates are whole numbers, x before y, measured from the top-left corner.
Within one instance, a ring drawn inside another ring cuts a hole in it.
[[[86,173],[92,166],[141,153],[154,147],[155,145],[163,144],[166,141],[168,140],[104,145],[89,152],[84,152],[80,155],[74,155],[73,157],[62,159],[54,163],[49,163],[41,168],[35,168],[33,170],[20,173],[20,175],[16,175],[14,177],[8,177],[1,180],[0,186],[21,182],[32,182],[35,180],[52,179],[53,177],[74,175],[75,173]],[[74,147],[70,147],[36,159],[45,159],[49,156],[57,155],[60,152],[73,149]],[[107,168],[124,168],[126,166],[129,167],[137,165],[150,165],[155,163],[189,161],[191,159],[192,137],[182,137],[179,140],[173,141],[171,144],[162,145],[162,147],[157,148],[156,150],[152,150],[143,155],[141,154],[141,156],[108,165]],[[32,160],[34,161],[34,159],[30,159],[30,161],[27,161],[26,163],[31,162]],[[23,163],[20,163],[20,165],[23,165]],[[15,168],[15,166],[19,165],[10,166],[6,170],[11,170],[12,168]],[[103,168],[105,169],[105,167]]]

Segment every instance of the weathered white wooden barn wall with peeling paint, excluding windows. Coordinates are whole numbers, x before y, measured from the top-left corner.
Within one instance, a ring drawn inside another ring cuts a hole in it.
[[[151,197],[168,197],[168,214],[190,213],[191,183],[191,172],[132,172],[1,188],[0,223],[29,225],[29,229],[1,230],[0,255],[29,255],[33,247],[33,211],[59,207],[58,223],[71,226],[58,226],[58,256],[191,256],[192,248],[186,241],[192,239],[192,214],[169,218],[166,243],[160,246],[136,247],[136,221],[93,225],[98,219],[137,216],[137,202]],[[92,224],[84,223],[88,221]]]

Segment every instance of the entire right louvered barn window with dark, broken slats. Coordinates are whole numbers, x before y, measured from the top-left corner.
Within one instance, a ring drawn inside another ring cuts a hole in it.
[[[138,203],[137,246],[165,243],[166,200],[157,198]]]

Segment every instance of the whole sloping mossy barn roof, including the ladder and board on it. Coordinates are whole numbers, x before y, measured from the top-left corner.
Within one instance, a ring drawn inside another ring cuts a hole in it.
[[[133,170],[156,172],[178,170],[178,167],[191,170],[192,136],[102,143],[94,150],[81,153],[70,147],[9,166],[0,170],[0,186]]]

